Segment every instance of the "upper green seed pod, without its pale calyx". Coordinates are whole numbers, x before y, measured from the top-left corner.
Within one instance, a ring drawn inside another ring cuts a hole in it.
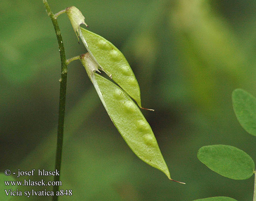
[[[93,59],[141,108],[140,87],[122,52],[103,37],[83,28],[80,31]]]

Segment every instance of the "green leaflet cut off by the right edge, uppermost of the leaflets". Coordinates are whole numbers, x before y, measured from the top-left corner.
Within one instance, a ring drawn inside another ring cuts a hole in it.
[[[243,89],[235,89],[232,102],[239,123],[248,133],[256,136],[256,98]]]

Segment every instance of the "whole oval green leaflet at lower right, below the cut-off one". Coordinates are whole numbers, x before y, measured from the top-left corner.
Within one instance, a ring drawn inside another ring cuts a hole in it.
[[[254,161],[246,152],[228,145],[203,146],[197,158],[218,174],[236,179],[247,179],[254,173]]]

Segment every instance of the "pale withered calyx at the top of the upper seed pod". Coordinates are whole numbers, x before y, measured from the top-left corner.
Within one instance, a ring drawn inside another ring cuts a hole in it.
[[[74,29],[74,32],[76,33],[76,36],[78,38],[80,25],[83,24],[88,27],[88,25],[85,23],[85,17],[83,16],[82,12],[78,10],[78,8],[76,8],[75,6],[68,7],[65,10]]]

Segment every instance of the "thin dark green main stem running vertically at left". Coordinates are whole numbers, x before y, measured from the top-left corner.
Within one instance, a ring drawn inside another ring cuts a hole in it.
[[[62,36],[60,33],[60,27],[58,25],[57,19],[53,14],[47,0],[43,0],[43,3],[46,8],[46,12],[48,16],[50,16],[52,20],[52,24],[54,25],[54,30],[56,33],[56,37],[58,40],[59,51],[60,51],[60,60],[61,60],[61,78],[60,78],[60,101],[59,101],[59,120],[58,120],[58,131],[57,131],[57,150],[56,150],[56,160],[55,160],[55,169],[60,171],[61,166],[61,156],[62,156],[62,145],[63,145],[63,131],[64,131],[64,117],[65,117],[65,102],[66,102],[66,86],[67,86],[67,64],[66,64],[66,56],[64,45],[62,41]],[[60,176],[54,176],[54,181],[59,181]],[[52,198],[53,201],[58,201],[58,196],[56,196],[56,191],[59,190],[59,186],[54,186],[54,196]]]

